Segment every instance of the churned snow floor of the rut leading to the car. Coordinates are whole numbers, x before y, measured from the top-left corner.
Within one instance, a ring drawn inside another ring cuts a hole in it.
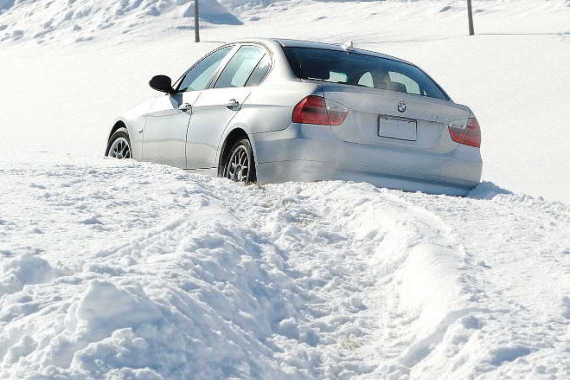
[[[273,185],[268,194],[276,198],[278,209],[269,216],[264,231],[288,251],[290,263],[299,272],[296,283],[311,295],[312,313],[297,323],[317,338],[304,348],[294,340],[284,344],[290,352],[302,349],[307,356],[319,357],[316,378],[369,373],[376,365],[355,353],[361,340],[376,328],[363,303],[376,282],[374,271],[354,251],[350,231],[339,223],[340,215],[315,202],[327,192],[312,184],[293,183]]]

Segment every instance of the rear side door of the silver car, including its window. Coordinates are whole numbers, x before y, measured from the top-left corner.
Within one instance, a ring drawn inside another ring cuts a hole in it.
[[[251,93],[246,87],[254,68],[268,53],[265,48],[243,45],[219,74],[215,84],[202,92],[193,107],[186,140],[186,164],[191,169],[217,165],[216,150],[223,130]]]

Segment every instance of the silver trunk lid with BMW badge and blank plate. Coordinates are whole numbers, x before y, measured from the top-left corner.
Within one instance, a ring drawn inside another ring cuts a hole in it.
[[[358,144],[448,153],[457,146],[447,132],[451,120],[469,117],[469,108],[443,99],[348,84],[319,83],[325,99],[347,106],[337,137]]]

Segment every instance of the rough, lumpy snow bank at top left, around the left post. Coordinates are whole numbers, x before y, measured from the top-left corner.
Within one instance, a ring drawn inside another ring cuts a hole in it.
[[[85,42],[99,36],[193,28],[194,2],[188,0],[122,0],[0,2],[0,42],[58,40]],[[200,1],[200,18],[211,24],[239,25],[241,21],[216,0]]]

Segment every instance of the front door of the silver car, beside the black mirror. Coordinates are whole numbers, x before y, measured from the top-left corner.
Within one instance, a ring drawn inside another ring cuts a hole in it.
[[[159,97],[150,107],[143,134],[144,161],[186,167],[186,132],[192,107],[233,48],[211,52],[186,72],[177,93]]]

